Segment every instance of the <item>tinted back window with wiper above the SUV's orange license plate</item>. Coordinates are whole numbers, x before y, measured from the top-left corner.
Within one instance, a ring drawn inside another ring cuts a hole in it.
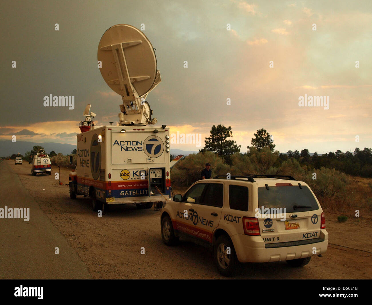
[[[285,208],[286,213],[304,212],[318,210],[317,201],[307,186],[270,186],[259,187],[258,205],[259,208]],[[295,207],[297,206],[297,207]],[[304,207],[306,206],[306,207]]]

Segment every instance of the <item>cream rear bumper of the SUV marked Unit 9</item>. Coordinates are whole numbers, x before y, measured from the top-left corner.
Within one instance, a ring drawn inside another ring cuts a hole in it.
[[[328,233],[325,229],[320,232],[320,239],[314,239],[312,243],[305,245],[283,246],[284,243],[266,244],[261,236],[248,236],[244,234],[236,234],[231,236],[234,244],[235,252],[240,262],[275,262],[287,261],[297,258],[309,257],[313,254],[313,247],[316,248],[316,255],[327,251],[328,247]],[[267,245],[270,245],[269,247]]]

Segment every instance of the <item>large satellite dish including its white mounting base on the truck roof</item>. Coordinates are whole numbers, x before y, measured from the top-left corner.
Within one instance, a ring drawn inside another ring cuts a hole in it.
[[[134,26],[114,25],[102,35],[97,58],[106,84],[122,96],[119,125],[155,124],[157,119],[151,118],[153,111],[145,98],[161,78],[147,37]]]

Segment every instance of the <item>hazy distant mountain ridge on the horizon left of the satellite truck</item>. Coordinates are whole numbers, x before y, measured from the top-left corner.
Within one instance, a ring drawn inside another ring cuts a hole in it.
[[[42,146],[45,149],[45,152],[49,154],[52,150],[54,150],[57,154],[61,152],[64,155],[71,154],[71,151],[76,149],[76,145],[71,144],[62,144],[62,143],[52,143],[52,142],[44,142],[44,143],[35,143],[35,142],[26,142],[26,141],[4,141],[0,140],[0,156],[7,157],[12,154],[17,154],[20,152],[22,155],[25,155],[26,151],[32,150],[32,147],[35,145]]]

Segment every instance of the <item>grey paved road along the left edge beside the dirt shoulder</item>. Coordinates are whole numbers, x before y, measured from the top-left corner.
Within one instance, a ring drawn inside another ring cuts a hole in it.
[[[29,221],[0,218],[0,279],[91,279],[7,162],[0,161],[0,208],[30,208]],[[55,254],[55,247],[59,254]]]

